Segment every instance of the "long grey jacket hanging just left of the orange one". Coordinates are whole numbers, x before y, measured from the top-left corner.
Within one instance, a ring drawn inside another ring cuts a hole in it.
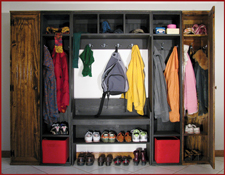
[[[154,46],[153,51],[153,104],[155,118],[161,118],[162,122],[169,121],[169,111],[171,111],[167,102],[167,86],[163,71],[165,70],[165,62],[162,55]]]

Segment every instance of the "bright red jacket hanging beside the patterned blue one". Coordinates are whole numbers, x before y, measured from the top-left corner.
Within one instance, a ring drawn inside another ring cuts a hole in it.
[[[65,113],[70,100],[67,54],[64,51],[62,53],[56,53],[54,47],[52,59],[56,77],[58,110],[59,112]]]

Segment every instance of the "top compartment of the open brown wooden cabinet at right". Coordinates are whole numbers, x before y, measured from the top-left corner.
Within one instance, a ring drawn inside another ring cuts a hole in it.
[[[192,28],[194,24],[204,24],[208,31],[209,13],[207,11],[201,11],[198,13],[183,12],[182,14],[182,28]],[[184,32],[184,31],[182,31]],[[191,34],[189,34],[191,35]],[[193,34],[192,34],[193,35]]]

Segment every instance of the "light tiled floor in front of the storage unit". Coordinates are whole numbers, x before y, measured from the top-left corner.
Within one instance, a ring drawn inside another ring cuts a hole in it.
[[[21,166],[10,165],[9,158],[2,158],[2,174],[224,174],[224,157],[216,157],[216,168],[208,164],[179,166]]]

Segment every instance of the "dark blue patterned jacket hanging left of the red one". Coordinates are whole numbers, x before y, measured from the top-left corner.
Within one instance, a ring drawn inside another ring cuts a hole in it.
[[[58,107],[56,98],[56,79],[54,73],[54,65],[51,54],[46,46],[44,46],[44,97],[43,97],[43,118],[44,122],[52,125],[57,122]]]

